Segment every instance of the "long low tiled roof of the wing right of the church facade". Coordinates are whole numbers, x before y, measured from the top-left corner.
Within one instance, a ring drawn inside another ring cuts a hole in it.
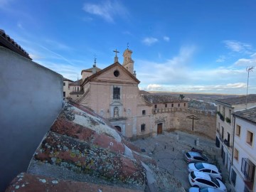
[[[142,95],[144,100],[149,103],[170,103],[170,102],[187,102],[186,100],[180,100],[178,97],[173,97],[171,95],[157,95],[157,94],[149,94]]]

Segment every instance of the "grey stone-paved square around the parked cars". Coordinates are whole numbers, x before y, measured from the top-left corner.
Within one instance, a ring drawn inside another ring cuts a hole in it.
[[[196,146],[196,141],[198,146]],[[223,181],[228,181],[228,172],[223,169],[221,164],[220,149],[215,146],[215,141],[211,139],[176,131],[164,132],[164,134],[159,134],[156,137],[138,139],[133,143],[139,146],[140,149],[144,149],[144,154],[156,160],[159,171],[174,176],[186,191],[191,186],[188,182],[188,164],[183,160],[183,156],[192,147],[203,149],[203,154],[206,154],[210,161],[223,171]],[[225,184],[230,190],[230,183],[226,182]]]

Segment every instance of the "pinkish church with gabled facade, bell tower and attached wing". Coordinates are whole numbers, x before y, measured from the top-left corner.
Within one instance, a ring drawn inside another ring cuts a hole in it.
[[[114,63],[107,68],[97,68],[95,61],[92,68],[82,70],[82,79],[73,82],[64,78],[63,96],[90,107],[132,139],[173,128],[172,112],[187,109],[188,101],[139,90],[132,50],[124,50],[122,65],[117,58],[119,52],[114,52]]]

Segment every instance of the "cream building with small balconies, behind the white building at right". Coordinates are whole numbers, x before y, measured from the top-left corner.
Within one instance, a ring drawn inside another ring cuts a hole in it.
[[[245,110],[247,107],[256,106],[256,95],[231,97],[217,102],[216,117],[216,146],[221,149],[221,157],[225,168],[230,173],[233,152],[233,113]]]

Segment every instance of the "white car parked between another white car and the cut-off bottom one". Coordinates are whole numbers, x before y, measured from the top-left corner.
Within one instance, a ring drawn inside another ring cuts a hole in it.
[[[218,188],[221,191],[227,192],[227,188],[224,183],[220,181],[218,178],[213,178],[209,174],[202,173],[200,171],[191,171],[188,174],[188,181],[193,187],[200,188]]]

